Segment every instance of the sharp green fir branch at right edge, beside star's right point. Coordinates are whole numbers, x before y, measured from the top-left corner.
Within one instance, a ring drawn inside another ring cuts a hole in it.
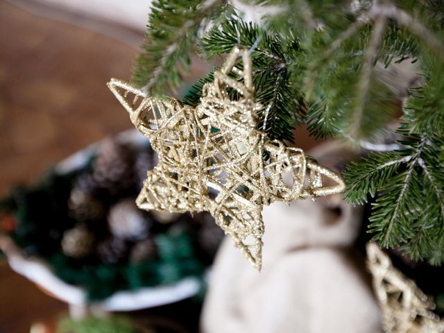
[[[377,195],[370,232],[382,246],[401,246],[413,259],[444,260],[444,166],[436,151],[443,139],[410,135],[405,149],[372,153],[349,165],[345,198],[366,203]]]

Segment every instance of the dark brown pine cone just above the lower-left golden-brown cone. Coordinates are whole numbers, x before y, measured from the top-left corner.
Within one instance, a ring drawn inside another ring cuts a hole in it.
[[[79,222],[97,221],[105,214],[103,203],[79,187],[74,187],[71,190],[68,210],[69,216]]]

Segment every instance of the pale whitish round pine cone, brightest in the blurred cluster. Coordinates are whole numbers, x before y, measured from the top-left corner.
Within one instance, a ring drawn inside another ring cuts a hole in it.
[[[151,221],[139,210],[134,199],[128,198],[111,207],[108,225],[115,237],[136,241],[146,237]]]

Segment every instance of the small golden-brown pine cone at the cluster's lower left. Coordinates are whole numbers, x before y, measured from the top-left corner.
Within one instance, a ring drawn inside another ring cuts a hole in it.
[[[62,238],[62,250],[68,257],[81,259],[92,252],[94,234],[85,225],[78,225],[65,231]]]

